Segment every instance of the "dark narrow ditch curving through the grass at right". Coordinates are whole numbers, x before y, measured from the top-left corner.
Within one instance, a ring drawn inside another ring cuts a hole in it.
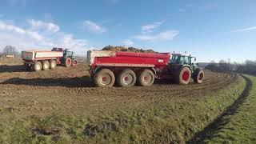
[[[194,134],[194,137],[186,143],[204,143],[205,139],[213,138],[214,133],[230,121],[229,117],[227,116],[234,115],[236,113],[239,106],[241,106],[248,97],[252,86],[252,82],[249,78],[246,78],[245,76],[242,76],[242,78],[246,80],[246,88],[245,90],[243,90],[242,94],[238,97],[238,99],[236,99],[231,106],[229,106],[221,115],[219,115],[218,118],[216,118],[213,122],[206,126],[204,130],[199,131],[197,134]]]

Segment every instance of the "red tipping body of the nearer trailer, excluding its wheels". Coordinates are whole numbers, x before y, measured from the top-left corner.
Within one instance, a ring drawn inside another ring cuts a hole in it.
[[[104,67],[118,74],[121,70],[132,69],[135,72],[143,69],[152,70],[160,78],[162,70],[166,69],[170,53],[134,53],[108,50],[89,50],[87,63],[90,65],[90,75]]]

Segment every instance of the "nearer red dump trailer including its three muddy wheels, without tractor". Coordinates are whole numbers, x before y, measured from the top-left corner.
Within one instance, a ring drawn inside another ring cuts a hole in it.
[[[138,79],[140,85],[151,86],[154,78],[164,78],[166,67],[168,66],[170,53],[134,53],[108,50],[89,50],[87,52],[87,63],[90,66],[90,75],[94,78],[94,83],[98,86],[108,86],[105,79],[112,77],[117,80],[118,85],[133,86]],[[101,71],[107,71],[99,76]],[[122,79],[120,75],[124,75]],[[142,79],[142,77],[144,79]],[[102,79],[101,81],[98,80]],[[137,80],[136,80],[137,78]],[[146,78],[149,78],[146,81]],[[143,81],[143,82],[142,82]],[[111,80],[110,86],[113,84]]]

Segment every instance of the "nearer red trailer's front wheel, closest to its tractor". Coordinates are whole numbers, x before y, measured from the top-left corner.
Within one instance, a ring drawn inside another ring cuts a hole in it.
[[[142,70],[137,77],[138,86],[152,86],[154,84],[154,73],[152,70]]]

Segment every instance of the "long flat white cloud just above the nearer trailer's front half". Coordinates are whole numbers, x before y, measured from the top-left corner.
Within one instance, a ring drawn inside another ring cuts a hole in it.
[[[166,30],[159,34],[141,34],[134,36],[141,41],[159,42],[174,39],[179,34],[178,30]]]

